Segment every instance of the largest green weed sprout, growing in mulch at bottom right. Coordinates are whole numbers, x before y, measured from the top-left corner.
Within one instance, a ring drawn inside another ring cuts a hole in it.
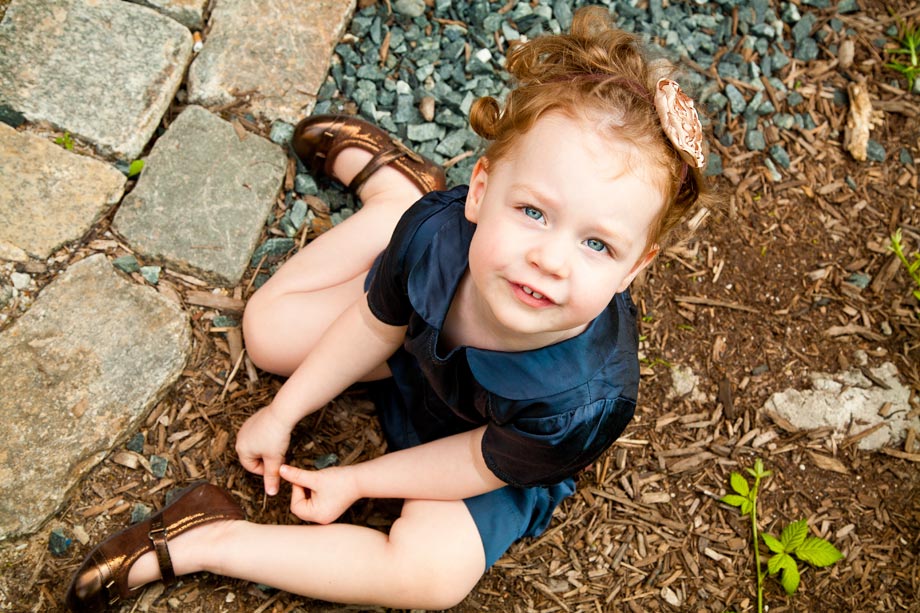
[[[738,507],[742,515],[751,518],[751,532],[754,542],[754,566],[757,573],[757,612],[763,613],[763,580],[769,573],[770,576],[781,573],[779,581],[788,595],[792,595],[799,587],[799,567],[795,558],[812,566],[830,566],[843,557],[836,547],[822,538],[809,536],[808,523],[803,519],[793,522],[783,529],[779,538],[767,533],[758,533],[757,530],[757,493],[760,482],[772,473],[764,470],[763,461],[757,458],[754,468],[745,469],[754,477],[754,487],[741,473],[733,472],[730,483],[734,494],[723,496],[721,501],[727,505]],[[775,555],[767,560],[767,572],[764,572],[760,563],[760,540],[763,539],[767,548]],[[793,558],[792,556],[795,556]]]

